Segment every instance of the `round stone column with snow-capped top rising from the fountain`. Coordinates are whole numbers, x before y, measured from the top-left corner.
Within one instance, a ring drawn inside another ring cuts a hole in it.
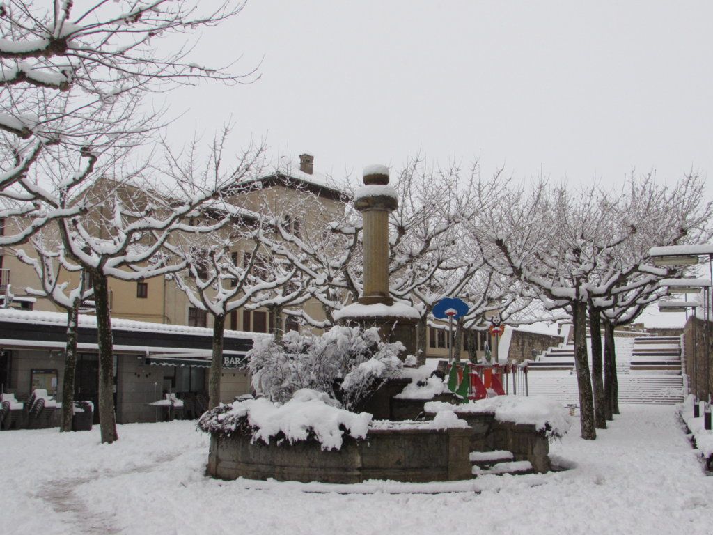
[[[359,302],[339,310],[334,319],[346,325],[379,327],[384,340],[404,344],[405,357],[416,355],[419,313],[389,295],[389,213],[397,206],[389,169],[384,165],[364,168],[364,187],[356,190],[354,198],[363,220],[364,288]]]

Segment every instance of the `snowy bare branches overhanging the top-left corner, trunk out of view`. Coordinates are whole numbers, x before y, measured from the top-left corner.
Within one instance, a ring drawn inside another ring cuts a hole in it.
[[[0,243],[21,243],[49,220],[69,215],[57,208],[53,190],[31,176],[52,147],[62,146],[64,157],[69,149],[75,152],[69,158],[81,163],[63,180],[81,181],[108,146],[116,149],[125,138],[155,128],[160,112],[135,116],[128,130],[114,124],[120,114],[134,114],[141,94],[201,79],[254,80],[254,72],[236,75],[227,66],[190,62],[190,41],[155,46],[171,34],[214,26],[242,6],[232,0],[210,7],[186,0],[2,4],[0,195],[6,203],[0,216],[22,215],[25,225]]]

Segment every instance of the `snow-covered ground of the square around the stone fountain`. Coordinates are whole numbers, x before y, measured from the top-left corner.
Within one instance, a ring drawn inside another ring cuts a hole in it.
[[[1,432],[0,526],[45,535],[713,533],[713,478],[676,407],[622,408],[596,441],[575,424],[552,445],[568,471],[430,487],[217,481],[204,475],[208,441],[195,422],[123,425],[111,445],[98,444],[96,427]],[[438,488],[451,492],[404,492]]]

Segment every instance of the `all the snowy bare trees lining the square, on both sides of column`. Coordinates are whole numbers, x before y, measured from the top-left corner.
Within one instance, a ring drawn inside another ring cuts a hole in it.
[[[150,93],[202,79],[255,78],[190,63],[190,45],[175,48],[178,41],[163,39],[213,26],[240,9],[240,1],[230,0],[84,6],[56,0],[49,10],[10,0],[0,7],[0,217],[16,222],[0,245],[31,244],[34,253],[18,255],[39,276],[36,291],[67,311],[72,372],[63,385],[63,429],[71,424],[78,310],[91,301],[101,436],[118,438],[112,277],[173,277],[191,304],[211,315],[211,406],[220,399],[231,312],[266,307],[278,319],[324,328],[361,293],[361,223],[348,191],[344,208],[308,190],[297,204],[276,203],[257,180],[261,148],[229,155],[228,130],[205,153],[198,142],[175,151],[154,141],[166,119],[164,111],[147,112]],[[161,150],[142,151],[147,145]],[[545,183],[516,187],[499,173],[483,180],[477,165],[438,168],[418,157],[395,174],[391,292],[421,312],[421,357],[431,309],[442,297],[466,297],[471,309],[459,322],[463,330],[483,329],[489,310],[503,310],[511,322],[563,311],[575,326],[583,437],[594,438],[617,412],[613,328],[660,295],[657,280],[679,275],[649,265],[646,251],[709,235],[702,181],[689,176],[667,189],[647,177],[617,192],[576,193]],[[314,226],[298,229],[294,213],[307,210]],[[89,279],[91,287],[83,283]],[[310,299],[322,314],[302,306]],[[595,335],[601,325],[603,357]],[[275,321],[278,336],[280,326]]]

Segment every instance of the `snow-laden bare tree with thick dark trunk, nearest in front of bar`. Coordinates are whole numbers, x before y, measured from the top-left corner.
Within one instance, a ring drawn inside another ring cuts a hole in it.
[[[235,165],[235,173],[225,178],[210,177],[202,182],[175,183],[161,188],[160,179],[128,180],[101,178],[75,196],[68,205],[83,206],[81,215],[58,222],[66,256],[91,275],[96,304],[99,346],[99,417],[103,442],[117,438],[113,407],[113,350],[108,281],[144,280],[182,270],[185,259],[170,258],[163,245],[175,232],[210,233],[234,217],[230,206],[221,203],[223,195],[244,178],[257,161],[256,153],[245,153]],[[173,176],[173,174],[171,174]],[[210,225],[192,224],[198,208],[210,203],[220,217]]]

